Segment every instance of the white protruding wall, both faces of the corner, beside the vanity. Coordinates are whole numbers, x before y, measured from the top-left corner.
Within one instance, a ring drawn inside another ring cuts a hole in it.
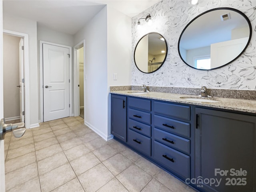
[[[74,35],[74,45],[85,39],[85,123],[110,139],[109,86],[131,84],[131,18],[104,7]],[[113,73],[118,80],[113,80]]]

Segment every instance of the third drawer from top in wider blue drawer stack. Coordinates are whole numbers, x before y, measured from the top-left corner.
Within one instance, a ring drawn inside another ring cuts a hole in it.
[[[168,147],[190,153],[190,140],[154,128],[154,139]]]

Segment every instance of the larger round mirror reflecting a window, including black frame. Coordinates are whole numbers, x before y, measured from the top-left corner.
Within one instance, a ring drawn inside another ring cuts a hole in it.
[[[194,69],[217,69],[242,55],[251,36],[252,25],[245,14],[233,8],[216,8],[189,22],[180,35],[178,52]]]

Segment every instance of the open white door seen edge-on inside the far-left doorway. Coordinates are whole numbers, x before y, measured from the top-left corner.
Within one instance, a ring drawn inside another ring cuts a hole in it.
[[[20,122],[25,122],[24,112],[24,51],[23,38],[20,38]]]

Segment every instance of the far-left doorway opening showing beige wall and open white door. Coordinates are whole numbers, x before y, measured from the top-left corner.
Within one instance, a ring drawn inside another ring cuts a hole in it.
[[[23,38],[3,34],[4,118],[7,123],[25,122]]]

